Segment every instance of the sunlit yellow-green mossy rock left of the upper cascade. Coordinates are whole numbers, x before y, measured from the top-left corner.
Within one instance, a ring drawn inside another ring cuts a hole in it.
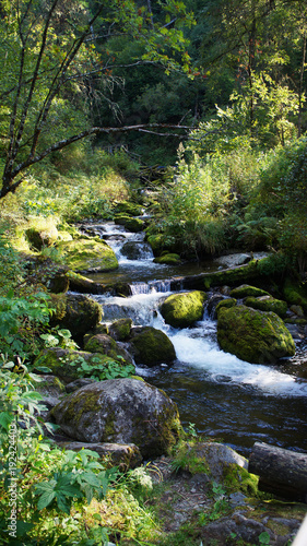
[[[114,250],[102,239],[82,237],[57,245],[62,260],[72,271],[113,271],[118,268]]]

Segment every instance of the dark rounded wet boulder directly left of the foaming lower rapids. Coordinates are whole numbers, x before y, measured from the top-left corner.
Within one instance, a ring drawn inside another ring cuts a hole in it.
[[[176,358],[172,341],[164,332],[152,327],[132,330],[131,346],[137,364],[156,366],[172,364]]]

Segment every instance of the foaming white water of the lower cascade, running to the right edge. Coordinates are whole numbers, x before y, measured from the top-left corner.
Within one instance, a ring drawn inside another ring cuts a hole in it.
[[[140,289],[144,290],[144,286],[147,285],[141,283]],[[134,295],[128,298],[95,296],[104,307],[106,322],[130,317],[137,325],[162,330],[172,340],[180,365],[203,370],[206,380],[250,384],[265,394],[307,396],[306,382],[299,383],[295,377],[272,366],[249,364],[221,351],[216,341],[216,322],[205,313],[194,328],[177,330],[165,324],[158,305],[173,293],[152,288],[149,294],[135,294],[138,287],[134,285]]]

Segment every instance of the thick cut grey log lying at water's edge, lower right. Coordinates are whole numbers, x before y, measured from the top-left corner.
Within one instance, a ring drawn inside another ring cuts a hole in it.
[[[307,454],[256,442],[248,472],[259,476],[260,491],[307,503]]]

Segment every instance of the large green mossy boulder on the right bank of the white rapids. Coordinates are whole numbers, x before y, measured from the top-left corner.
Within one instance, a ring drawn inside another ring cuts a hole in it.
[[[293,337],[278,314],[243,305],[220,309],[217,341],[223,351],[252,364],[273,364],[295,354]]]

